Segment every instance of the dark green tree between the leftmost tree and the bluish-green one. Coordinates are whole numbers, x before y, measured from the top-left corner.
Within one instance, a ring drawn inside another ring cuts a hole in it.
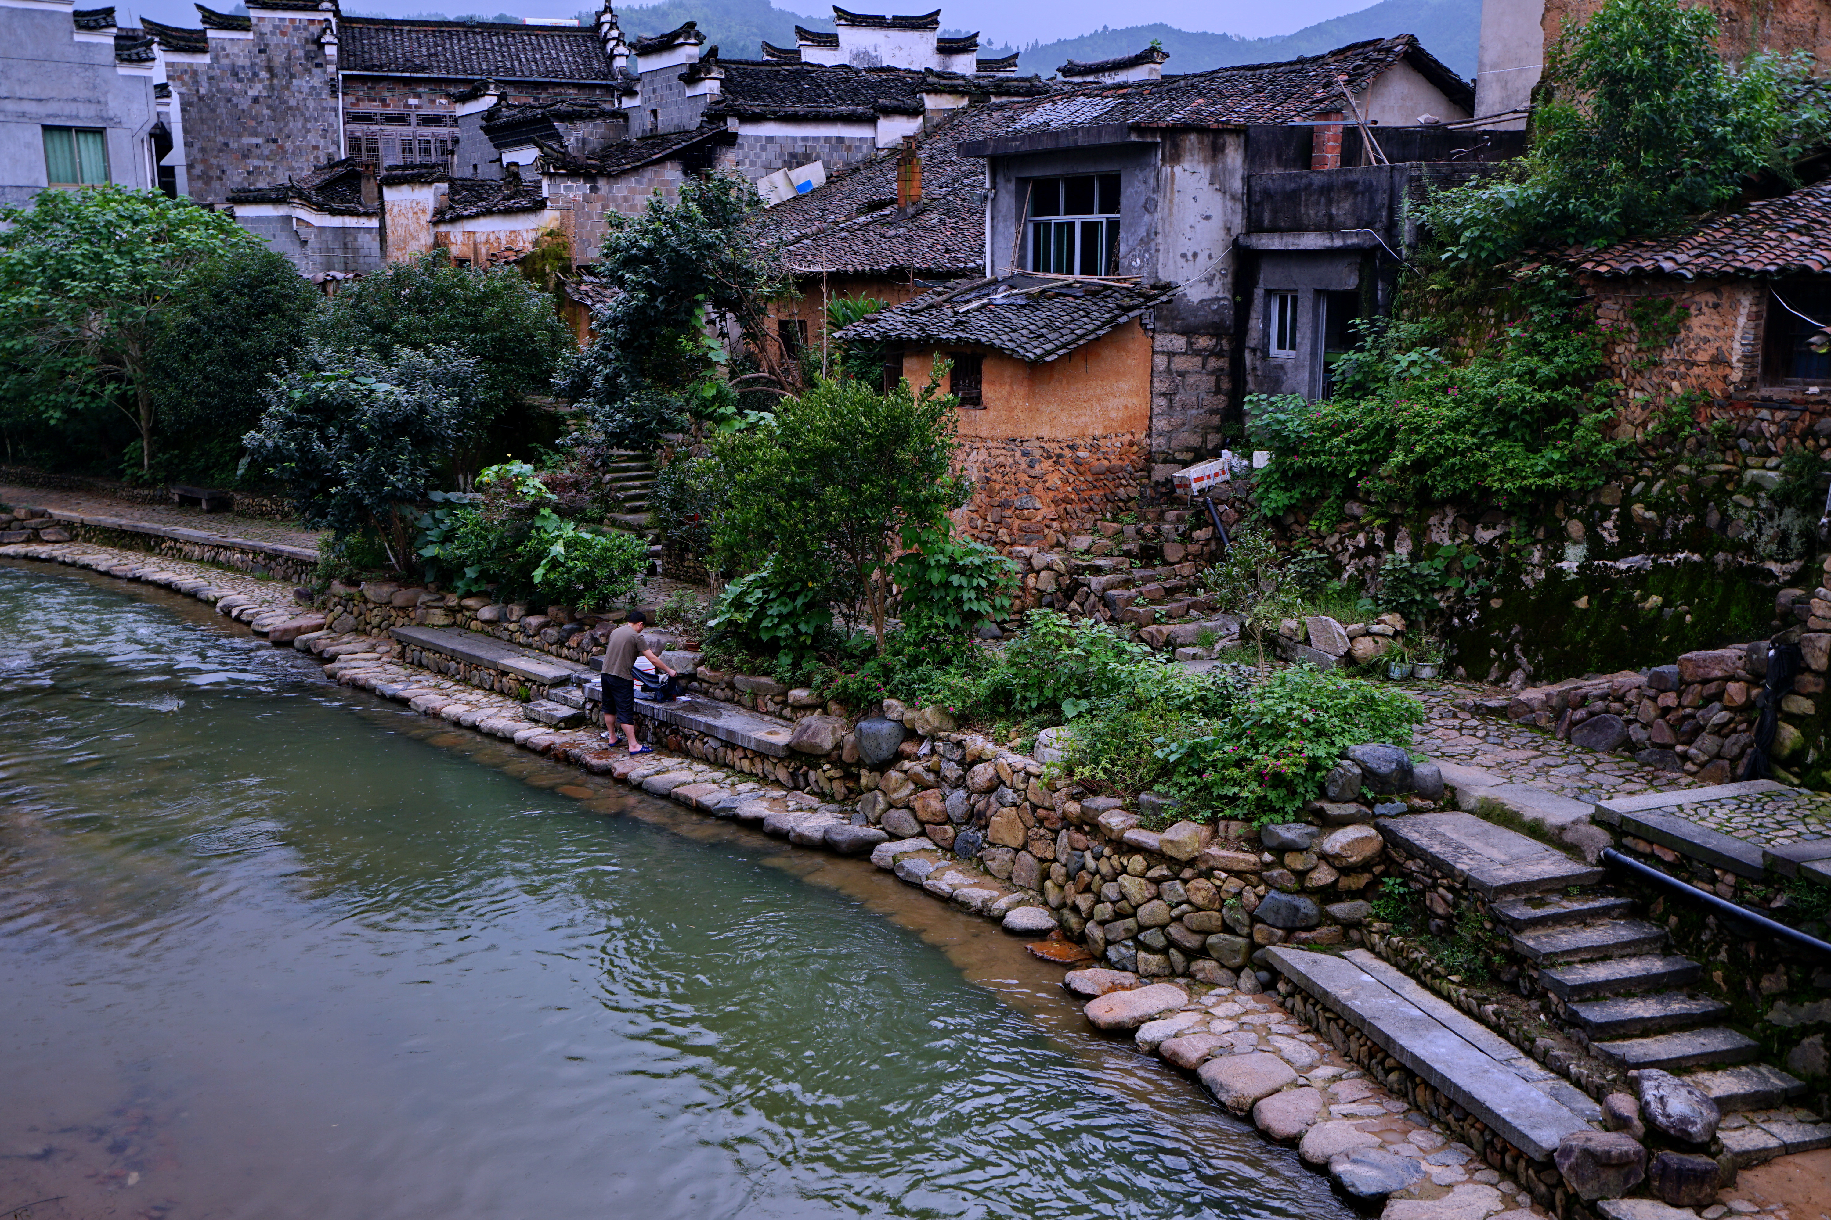
[[[181,477],[220,481],[260,423],[260,391],[304,338],[322,294],[273,251],[242,245],[194,267],[152,333],[146,371],[167,450]],[[205,474],[207,472],[207,474]]]

